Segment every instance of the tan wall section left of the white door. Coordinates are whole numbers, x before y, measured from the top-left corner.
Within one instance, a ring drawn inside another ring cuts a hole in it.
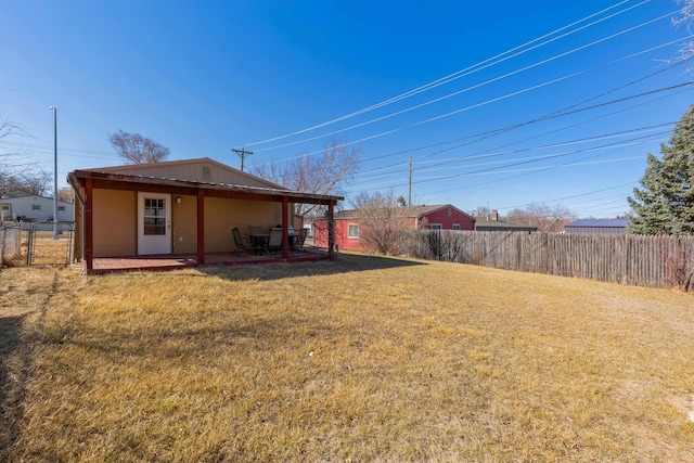
[[[93,191],[94,257],[133,256],[137,247],[137,193]]]

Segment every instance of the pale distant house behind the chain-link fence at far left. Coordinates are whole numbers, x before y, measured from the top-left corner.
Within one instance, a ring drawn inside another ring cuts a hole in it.
[[[57,220],[73,221],[75,205],[57,201]],[[53,198],[46,196],[16,196],[0,198],[0,221],[42,222],[53,220]]]

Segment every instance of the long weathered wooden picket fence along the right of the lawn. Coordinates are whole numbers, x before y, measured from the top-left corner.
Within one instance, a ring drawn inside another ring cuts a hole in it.
[[[694,236],[417,230],[403,248],[429,260],[694,291]]]

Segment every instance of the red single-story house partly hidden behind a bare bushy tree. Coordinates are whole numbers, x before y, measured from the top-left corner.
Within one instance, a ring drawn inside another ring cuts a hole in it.
[[[474,230],[475,219],[450,204],[435,206],[402,206],[396,208],[403,219],[403,227],[412,230]],[[359,228],[363,227],[359,209],[340,210],[334,215],[335,245],[340,249],[363,250],[359,241]],[[313,222],[313,243],[325,247],[329,242],[327,220]]]

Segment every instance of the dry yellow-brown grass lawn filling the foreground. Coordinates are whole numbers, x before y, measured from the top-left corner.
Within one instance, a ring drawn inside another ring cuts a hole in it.
[[[0,271],[0,461],[694,461],[694,296],[445,262]]]

